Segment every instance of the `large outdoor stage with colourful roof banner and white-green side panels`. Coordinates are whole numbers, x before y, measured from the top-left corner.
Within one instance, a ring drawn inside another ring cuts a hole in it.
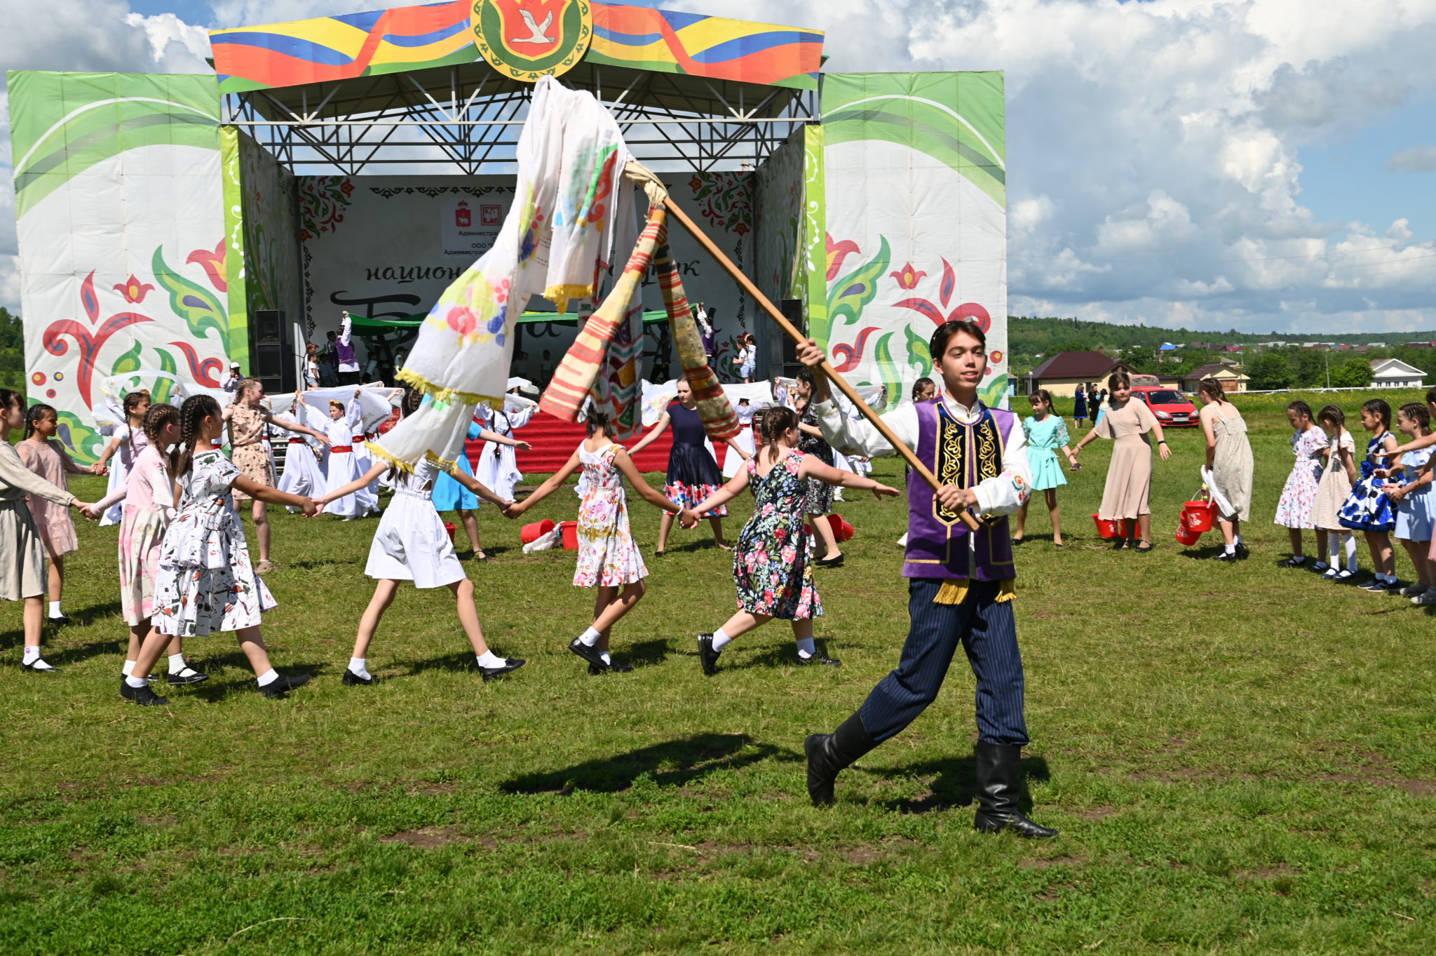
[[[549,20],[540,36],[534,26]],[[541,43],[538,40],[543,40]],[[675,201],[854,383],[926,375],[935,324],[988,326],[984,398],[1007,383],[1001,73],[833,73],[823,33],[587,0],[480,0],[246,26],[215,75],[10,75],[29,396],[79,461],[98,383],[169,395],[238,362],[294,385],[340,311],[419,316],[513,202],[533,82],[590,90]],[[675,258],[717,326],[717,372],[791,347],[682,231]],[[656,286],[645,306],[659,307]],[[551,309],[540,301],[530,309]],[[576,322],[530,317],[514,373],[543,385]],[[649,326],[643,378],[678,372]],[[408,327],[365,330],[376,375]],[[546,356],[547,353],[547,356]],[[787,356],[787,360],[785,360]]]

